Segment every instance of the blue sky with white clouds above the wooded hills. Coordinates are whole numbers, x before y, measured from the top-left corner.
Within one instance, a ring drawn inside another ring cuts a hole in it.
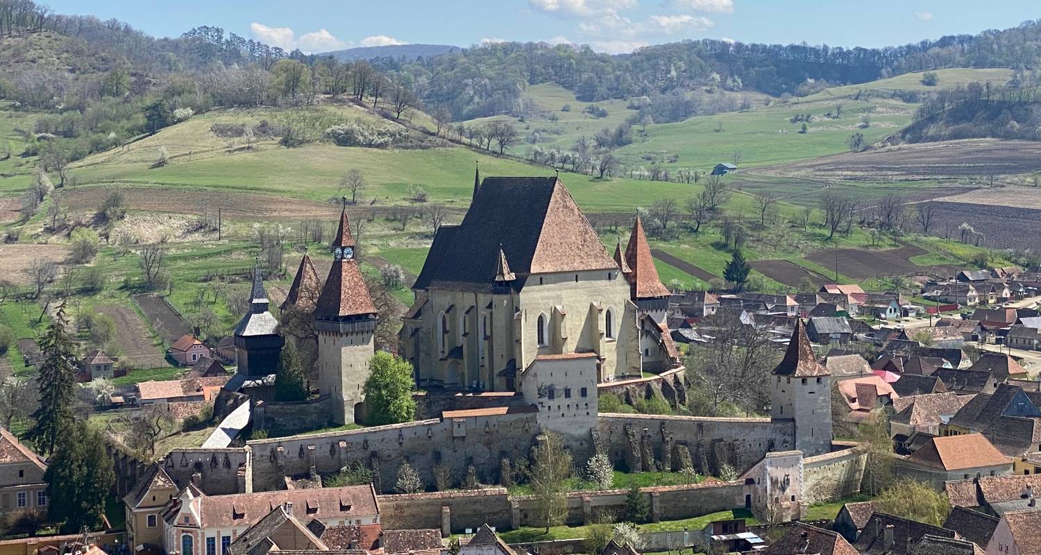
[[[215,25],[284,48],[482,41],[590,44],[603,52],[684,39],[878,47],[1041,18],[1037,0],[47,0],[176,36]],[[1032,9],[1033,8],[1033,9]]]

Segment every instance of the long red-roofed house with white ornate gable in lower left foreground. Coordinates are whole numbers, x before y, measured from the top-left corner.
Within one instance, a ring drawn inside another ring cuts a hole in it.
[[[380,509],[372,484],[229,496],[207,496],[188,485],[160,514],[162,548],[181,555],[227,553],[239,534],[279,506],[297,521],[369,527],[378,536]]]

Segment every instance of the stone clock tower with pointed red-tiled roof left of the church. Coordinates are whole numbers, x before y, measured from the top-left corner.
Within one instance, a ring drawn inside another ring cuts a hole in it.
[[[376,305],[354,258],[347,206],[332,242],[332,268],[314,307],[319,335],[319,390],[333,403],[333,420],[353,424],[364,401],[361,387],[375,352]]]

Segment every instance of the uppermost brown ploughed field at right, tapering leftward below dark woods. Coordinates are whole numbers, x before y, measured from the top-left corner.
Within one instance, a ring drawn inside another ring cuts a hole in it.
[[[899,145],[757,168],[754,173],[863,181],[936,180],[1041,171],[1041,143],[975,138]]]

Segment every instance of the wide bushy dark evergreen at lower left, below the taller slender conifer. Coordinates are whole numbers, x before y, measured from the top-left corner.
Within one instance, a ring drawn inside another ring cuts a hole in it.
[[[112,459],[101,434],[85,422],[61,429],[57,449],[47,461],[47,516],[62,534],[102,526],[105,498],[116,482]]]

